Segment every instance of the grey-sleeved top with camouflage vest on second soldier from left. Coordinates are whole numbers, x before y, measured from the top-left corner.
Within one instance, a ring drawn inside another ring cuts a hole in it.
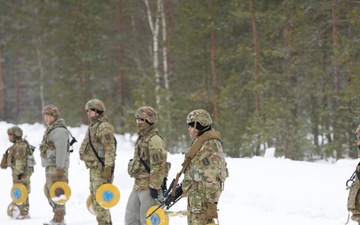
[[[41,165],[68,168],[70,164],[69,132],[64,119],[46,128],[40,144]]]

